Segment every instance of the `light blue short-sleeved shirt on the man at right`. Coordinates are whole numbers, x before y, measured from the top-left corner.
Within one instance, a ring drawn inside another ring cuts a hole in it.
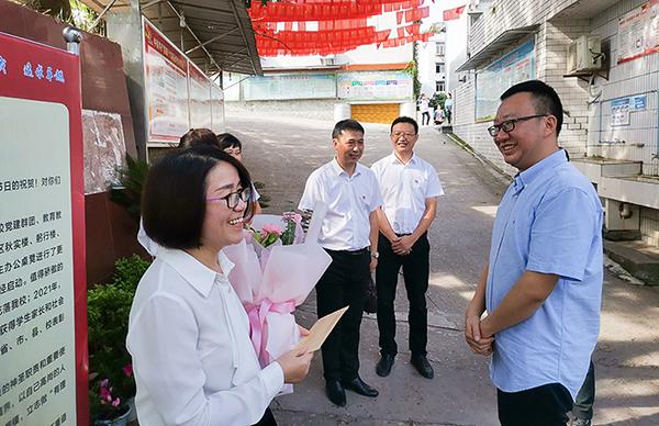
[[[561,383],[576,397],[600,333],[602,204],[562,149],[515,177],[490,248],[485,307],[493,312],[525,270],[559,276],[545,303],[496,333],[490,375],[504,392]]]

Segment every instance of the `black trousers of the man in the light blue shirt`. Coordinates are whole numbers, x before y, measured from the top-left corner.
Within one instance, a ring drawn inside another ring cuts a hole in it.
[[[544,384],[521,392],[496,390],[502,426],[566,426],[572,396],[560,383]]]

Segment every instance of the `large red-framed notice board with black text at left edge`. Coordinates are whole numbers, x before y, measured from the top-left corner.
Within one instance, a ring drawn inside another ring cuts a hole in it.
[[[0,33],[1,425],[89,423],[80,99],[77,56]]]

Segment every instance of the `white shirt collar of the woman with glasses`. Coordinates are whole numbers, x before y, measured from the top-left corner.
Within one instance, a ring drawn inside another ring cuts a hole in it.
[[[194,290],[208,298],[215,282],[217,272],[208,268],[194,257],[183,250],[163,248],[158,251],[158,258],[176,270]],[[234,264],[228,260],[224,253],[217,254],[217,262],[222,268],[223,276],[228,277],[228,272]]]

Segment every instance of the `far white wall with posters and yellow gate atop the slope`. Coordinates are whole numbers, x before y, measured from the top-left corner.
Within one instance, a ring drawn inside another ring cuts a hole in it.
[[[331,56],[266,57],[263,77],[225,76],[225,100],[233,111],[252,114],[391,123],[415,113],[407,68],[412,54],[412,44],[405,44],[367,45]]]

